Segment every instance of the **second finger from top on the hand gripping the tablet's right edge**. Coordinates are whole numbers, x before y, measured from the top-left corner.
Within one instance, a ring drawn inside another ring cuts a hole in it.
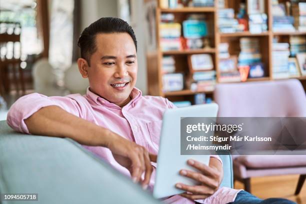
[[[198,173],[198,172],[194,172],[194,171],[191,171],[191,170],[180,170],[179,171],[179,174],[180,175],[183,175],[183,176],[186,176],[186,177],[189,177],[189,178],[192,178],[193,180],[196,180],[198,182],[200,182],[201,184],[205,184],[213,189],[216,189],[218,187],[218,181],[217,180],[214,180],[214,179],[211,179],[201,173]]]

